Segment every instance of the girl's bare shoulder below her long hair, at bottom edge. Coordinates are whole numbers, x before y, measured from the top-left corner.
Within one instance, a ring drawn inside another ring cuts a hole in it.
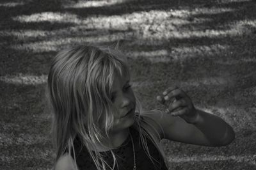
[[[58,159],[54,170],[75,170],[75,164],[74,159],[66,153]]]

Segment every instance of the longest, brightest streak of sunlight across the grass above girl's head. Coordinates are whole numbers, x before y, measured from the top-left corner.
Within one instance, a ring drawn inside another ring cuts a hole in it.
[[[189,17],[189,15],[197,14],[200,12],[201,12],[200,10],[195,10],[195,12],[189,12],[186,10],[175,10],[175,11],[171,10],[170,12],[161,11],[161,10],[151,10],[149,12],[134,12],[134,13],[124,14],[124,15],[90,16],[84,19],[81,19],[77,15],[74,15],[72,13],[42,12],[42,13],[34,13],[32,15],[20,15],[18,17],[13,17],[13,20],[18,20],[19,22],[42,22],[42,21],[63,22],[63,23],[68,22],[68,23],[79,24],[79,25],[84,24],[87,26],[87,28],[108,28],[109,29],[111,27],[115,27],[120,29],[121,28],[127,29],[127,27],[140,26],[138,24],[145,24],[150,26],[159,25],[159,24],[170,24],[170,23],[189,24],[190,22],[186,20],[186,18]],[[204,12],[209,12],[209,10],[205,10]]]

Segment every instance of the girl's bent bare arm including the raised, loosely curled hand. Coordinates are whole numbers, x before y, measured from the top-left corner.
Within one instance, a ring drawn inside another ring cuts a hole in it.
[[[163,94],[157,97],[161,104],[166,105],[170,98],[178,98],[166,105],[168,110],[163,112],[163,117],[152,115],[163,128],[164,134],[158,128],[163,138],[204,146],[225,146],[234,140],[235,133],[230,125],[214,114],[195,109],[184,91],[171,87]]]

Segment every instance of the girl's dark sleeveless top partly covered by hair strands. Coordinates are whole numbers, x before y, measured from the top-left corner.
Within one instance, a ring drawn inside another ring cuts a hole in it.
[[[137,170],[167,170],[168,168],[165,165],[164,159],[161,156],[161,153],[157,150],[156,146],[150,141],[150,139],[147,139],[148,144],[148,150],[150,152],[150,155],[154,162],[148,158],[147,154],[143,150],[143,146],[140,143],[140,134],[139,132],[134,129],[133,127],[129,128],[130,134],[127,139],[125,139],[124,143],[112,151],[116,155],[116,159],[118,162],[118,167],[120,170],[132,170],[134,167],[134,155],[133,155],[133,148],[132,148],[132,141],[131,137],[134,143],[134,150],[136,155],[136,169]],[[76,151],[76,162],[77,166],[79,167],[79,170],[96,170],[97,167],[95,166],[92,158],[90,157],[90,154],[88,153],[88,150],[85,146],[81,144],[81,141],[76,137],[74,140],[74,149]],[[110,151],[103,151],[100,152],[104,155],[106,154],[106,157],[104,156],[104,160],[109,164],[110,167],[113,167],[113,157]],[[154,160],[155,159],[155,160]],[[156,162],[156,160],[158,162]],[[107,166],[107,169],[110,169]],[[117,166],[115,166],[115,169],[117,169]]]

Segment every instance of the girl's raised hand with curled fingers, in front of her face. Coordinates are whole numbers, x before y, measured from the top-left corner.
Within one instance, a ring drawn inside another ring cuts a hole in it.
[[[188,123],[195,123],[198,118],[198,113],[191,99],[177,86],[164,90],[163,95],[157,96],[157,101],[167,107],[167,114],[180,116]]]

